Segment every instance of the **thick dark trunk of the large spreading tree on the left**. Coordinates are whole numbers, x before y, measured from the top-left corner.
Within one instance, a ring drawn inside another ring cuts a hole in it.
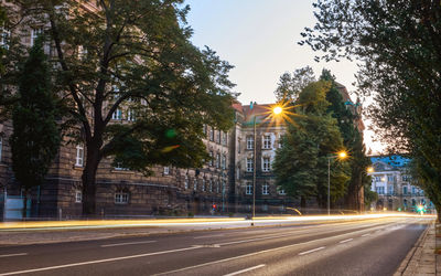
[[[87,146],[86,166],[83,171],[83,216],[96,215],[96,172],[100,161],[97,147]]]

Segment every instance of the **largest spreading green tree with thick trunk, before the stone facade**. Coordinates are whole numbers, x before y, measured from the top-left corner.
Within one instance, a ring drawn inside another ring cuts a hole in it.
[[[95,214],[105,157],[144,173],[208,158],[203,124],[226,130],[233,121],[232,66],[190,42],[183,0],[18,2],[23,23],[50,36],[66,121],[85,145],[84,215]]]

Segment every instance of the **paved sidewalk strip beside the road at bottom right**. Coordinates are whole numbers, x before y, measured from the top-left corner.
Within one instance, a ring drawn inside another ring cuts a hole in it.
[[[394,276],[441,275],[441,255],[435,254],[437,244],[441,245],[441,238],[435,236],[435,223],[431,223]]]

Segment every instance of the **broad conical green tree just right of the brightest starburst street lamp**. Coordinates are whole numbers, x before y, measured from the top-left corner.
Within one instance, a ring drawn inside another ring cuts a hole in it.
[[[293,124],[278,149],[275,161],[277,184],[289,195],[305,200],[315,198],[324,208],[327,199],[327,158],[343,149],[337,121],[327,113],[329,82],[313,82],[302,89],[295,100]],[[332,164],[331,200],[342,198],[348,180],[344,162]]]

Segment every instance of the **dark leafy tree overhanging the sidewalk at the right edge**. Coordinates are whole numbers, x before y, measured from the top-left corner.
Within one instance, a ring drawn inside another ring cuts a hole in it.
[[[369,115],[381,140],[430,168],[428,194],[441,210],[440,2],[320,0],[314,7],[318,23],[302,43],[324,51],[325,60],[358,60],[359,87],[374,92]]]

